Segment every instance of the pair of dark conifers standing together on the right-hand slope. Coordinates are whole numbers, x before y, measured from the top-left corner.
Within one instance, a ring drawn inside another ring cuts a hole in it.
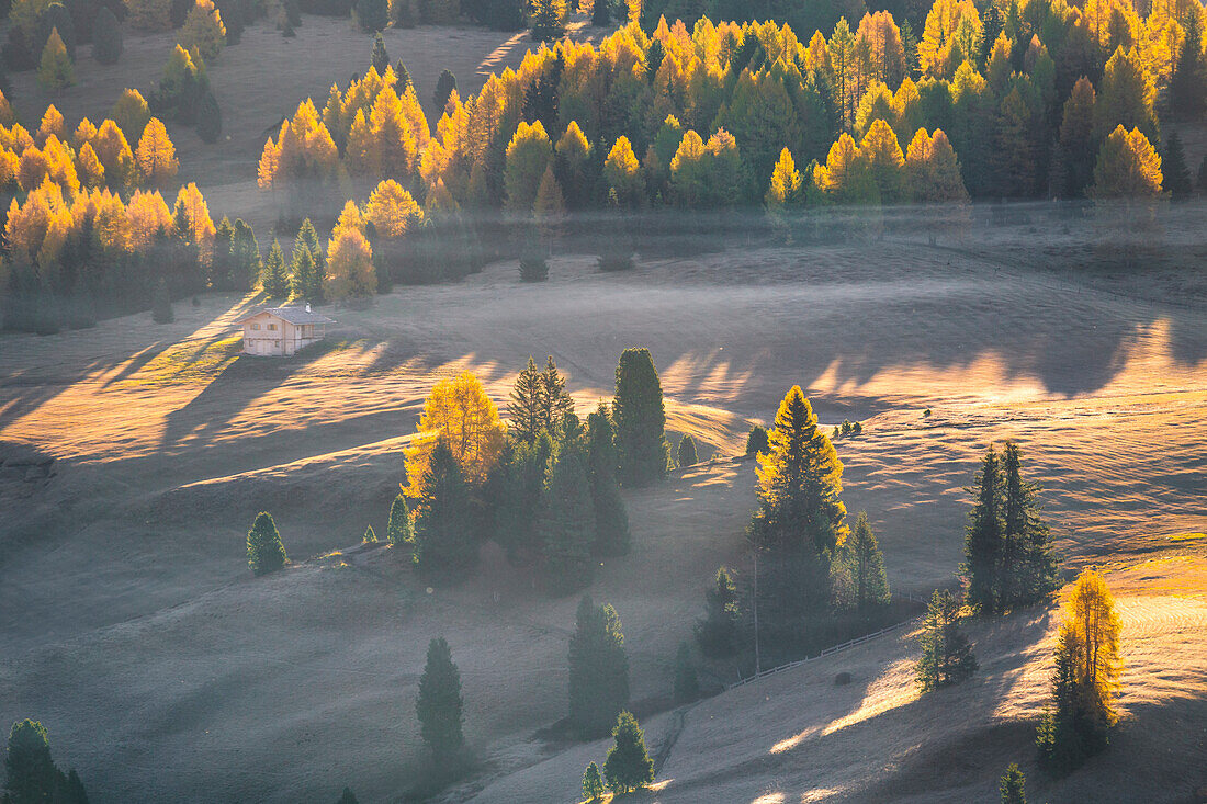
[[[1038,602],[1056,588],[1056,560],[1018,445],[1007,442],[1001,454],[991,447],[975,483],[964,537],[969,605],[993,614]]]

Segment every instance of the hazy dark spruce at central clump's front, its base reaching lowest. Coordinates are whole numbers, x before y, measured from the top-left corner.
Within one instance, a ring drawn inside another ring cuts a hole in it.
[[[595,571],[595,511],[585,450],[577,443],[562,447],[553,464],[538,530],[546,588],[565,595],[588,585]]]

